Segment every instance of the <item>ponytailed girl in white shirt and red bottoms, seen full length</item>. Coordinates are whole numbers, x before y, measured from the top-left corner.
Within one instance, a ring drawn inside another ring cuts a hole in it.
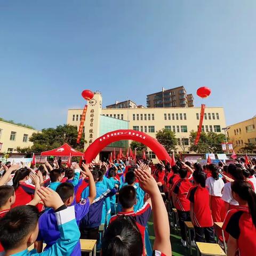
[[[221,191],[224,187],[224,182],[219,178],[218,167],[214,164],[209,164],[211,177],[206,179],[206,188],[210,194],[210,207],[212,210],[212,219],[214,222],[223,222],[226,217],[225,203],[221,199]]]

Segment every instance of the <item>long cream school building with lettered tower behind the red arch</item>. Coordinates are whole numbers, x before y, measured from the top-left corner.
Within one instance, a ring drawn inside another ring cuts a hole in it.
[[[87,113],[84,123],[85,149],[101,135],[119,129],[132,129],[156,136],[157,131],[168,129],[175,132],[178,139],[177,153],[189,153],[189,134],[197,131],[201,108],[102,108],[102,95],[95,92],[91,101],[87,102]],[[67,124],[77,126],[80,124],[83,109],[68,109]],[[203,131],[222,133],[226,127],[225,113],[222,107],[206,107]],[[111,143],[103,151],[109,152],[113,148],[128,146],[128,141]],[[148,148],[150,158],[155,154]]]

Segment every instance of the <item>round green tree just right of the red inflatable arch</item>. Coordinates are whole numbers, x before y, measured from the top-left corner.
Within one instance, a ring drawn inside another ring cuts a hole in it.
[[[175,132],[162,129],[156,133],[156,139],[159,143],[161,143],[167,153],[171,154],[172,150],[176,150],[176,145],[177,145],[177,139],[175,137]]]

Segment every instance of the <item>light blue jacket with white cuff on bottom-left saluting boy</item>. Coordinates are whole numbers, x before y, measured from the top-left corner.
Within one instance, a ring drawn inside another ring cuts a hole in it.
[[[28,249],[12,255],[27,256],[27,255],[42,255],[42,256],[55,256],[62,255],[68,256],[74,250],[77,242],[79,242],[80,231],[76,225],[74,206],[67,207],[65,210],[53,213],[56,219],[60,237],[55,244],[48,250],[37,253],[36,250],[28,251]]]

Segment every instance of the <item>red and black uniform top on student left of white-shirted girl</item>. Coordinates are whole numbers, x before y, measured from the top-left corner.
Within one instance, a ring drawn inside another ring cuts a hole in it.
[[[194,225],[200,228],[212,227],[213,220],[208,190],[200,185],[192,186],[188,191],[187,198],[191,203],[194,203]]]

